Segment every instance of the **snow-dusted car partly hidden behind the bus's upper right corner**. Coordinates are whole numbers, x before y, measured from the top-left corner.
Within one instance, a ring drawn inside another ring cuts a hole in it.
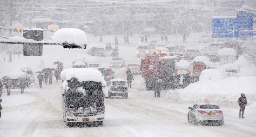
[[[114,72],[108,65],[100,65],[98,70],[102,73],[104,80],[107,82],[107,84],[110,84],[111,79],[114,79]]]

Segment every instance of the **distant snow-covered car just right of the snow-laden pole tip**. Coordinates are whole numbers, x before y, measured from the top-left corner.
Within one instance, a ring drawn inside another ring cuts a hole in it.
[[[100,57],[109,57],[112,55],[111,51],[108,51],[105,48],[99,48],[99,47],[92,47],[86,53],[92,56],[100,56]]]

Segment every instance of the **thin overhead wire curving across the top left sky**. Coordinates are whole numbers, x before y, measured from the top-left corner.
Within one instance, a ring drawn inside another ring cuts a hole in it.
[[[90,8],[90,7],[102,7],[102,6],[108,6],[113,4],[119,4],[119,3],[125,3],[135,0],[127,0],[127,1],[121,1],[121,2],[115,2],[115,3],[109,3],[109,4],[101,4],[101,5],[95,5],[95,6],[89,6],[89,7],[67,7],[67,8],[59,8],[59,9],[45,9],[45,10],[0,10],[0,11],[16,11],[16,12],[27,12],[27,11],[53,11],[53,10],[67,10],[67,9],[83,9],[83,8]]]

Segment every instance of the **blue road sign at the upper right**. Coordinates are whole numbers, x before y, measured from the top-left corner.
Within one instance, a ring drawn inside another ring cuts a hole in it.
[[[253,36],[253,15],[239,12],[237,17],[213,18],[213,38],[236,38]],[[247,30],[247,31],[245,31]]]

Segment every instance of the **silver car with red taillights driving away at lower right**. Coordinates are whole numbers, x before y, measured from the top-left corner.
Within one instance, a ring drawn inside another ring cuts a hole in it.
[[[188,113],[189,124],[212,124],[222,125],[224,123],[223,111],[217,104],[200,103],[195,104],[192,108],[189,107]]]

